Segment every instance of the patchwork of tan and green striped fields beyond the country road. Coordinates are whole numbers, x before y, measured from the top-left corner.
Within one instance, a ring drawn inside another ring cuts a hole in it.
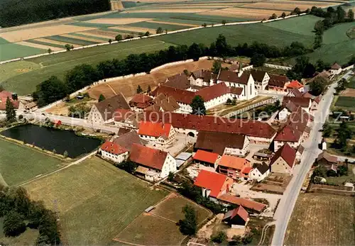
[[[146,31],[155,33],[158,27],[171,31],[201,26],[203,23],[262,20],[273,13],[280,16],[285,11],[286,14],[289,14],[296,6],[305,10],[311,6],[332,6],[339,4],[339,1],[224,0],[220,2],[202,0],[173,1],[163,4],[161,2],[125,3],[127,2],[124,2],[123,5],[121,1],[112,2],[114,9],[121,9],[120,12],[95,13],[58,21],[2,28],[0,38],[4,38],[6,42],[0,42],[0,60],[37,55],[47,52],[49,48],[53,51],[63,50],[65,44],[76,47],[107,43],[109,39],[114,40],[117,34],[137,36],[146,33]],[[124,9],[124,6],[127,6],[127,9]],[[113,28],[115,26],[116,28]],[[100,36],[99,33],[97,33],[98,35],[92,33],[89,37],[77,35],[90,30],[109,30],[111,34]],[[72,35],[76,38],[73,38]],[[45,40],[39,40],[40,38]],[[54,43],[53,40],[58,43]]]

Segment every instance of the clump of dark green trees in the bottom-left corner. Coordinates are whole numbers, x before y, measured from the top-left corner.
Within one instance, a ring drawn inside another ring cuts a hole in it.
[[[4,217],[4,235],[15,237],[26,228],[38,229],[35,245],[60,245],[57,218],[42,201],[29,199],[23,187],[2,187],[0,217]],[[31,243],[31,242],[30,242]]]

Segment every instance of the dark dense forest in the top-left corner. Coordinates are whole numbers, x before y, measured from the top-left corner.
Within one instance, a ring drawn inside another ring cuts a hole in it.
[[[109,11],[109,0],[3,0],[0,26],[7,28],[67,16]]]

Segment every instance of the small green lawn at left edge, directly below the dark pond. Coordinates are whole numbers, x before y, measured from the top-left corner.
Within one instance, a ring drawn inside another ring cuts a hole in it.
[[[0,138],[0,174],[9,186],[52,172],[63,164],[61,160],[31,147]]]

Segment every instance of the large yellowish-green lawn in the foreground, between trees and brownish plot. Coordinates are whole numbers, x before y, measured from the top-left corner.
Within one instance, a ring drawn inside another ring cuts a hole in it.
[[[25,188],[59,212],[67,245],[107,245],[146,208],[168,193],[151,189],[108,162],[92,157]]]

